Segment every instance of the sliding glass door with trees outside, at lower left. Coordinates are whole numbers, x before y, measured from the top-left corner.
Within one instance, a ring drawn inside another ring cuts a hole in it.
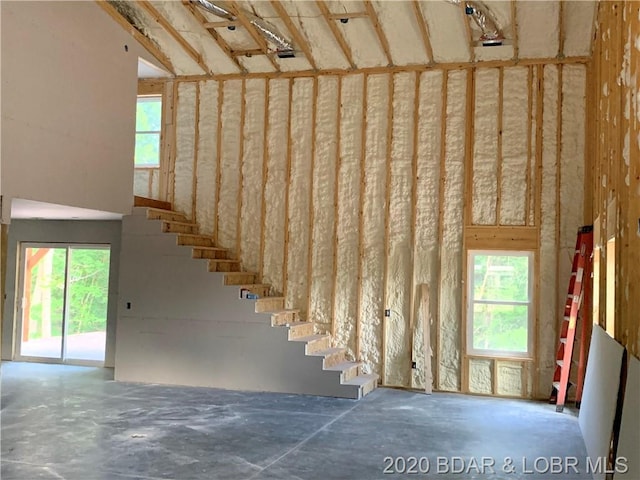
[[[23,244],[17,357],[103,363],[110,249]]]

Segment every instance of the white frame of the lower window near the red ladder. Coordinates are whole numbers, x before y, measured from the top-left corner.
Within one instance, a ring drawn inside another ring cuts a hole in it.
[[[476,255],[490,256],[517,256],[528,258],[528,301],[502,301],[474,299],[474,258]],[[467,354],[475,357],[491,357],[501,359],[531,360],[534,356],[534,328],[535,328],[535,250],[492,250],[469,249],[467,250],[467,310],[466,310],[466,350]],[[473,325],[475,304],[485,305],[523,305],[527,307],[527,351],[517,352],[513,350],[477,349],[473,346]]]

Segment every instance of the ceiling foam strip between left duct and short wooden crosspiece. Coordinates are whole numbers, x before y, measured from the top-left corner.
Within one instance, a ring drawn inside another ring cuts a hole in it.
[[[294,25],[307,39],[311,55],[319,69],[346,69],[350,67],[344,55],[336,53],[341,52],[340,45],[329,25],[322,18],[315,2],[283,0],[281,3]]]

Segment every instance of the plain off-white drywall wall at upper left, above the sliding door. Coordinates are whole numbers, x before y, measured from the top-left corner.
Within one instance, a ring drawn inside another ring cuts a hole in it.
[[[138,57],[148,54],[92,2],[0,8],[6,204],[19,197],[127,213]]]

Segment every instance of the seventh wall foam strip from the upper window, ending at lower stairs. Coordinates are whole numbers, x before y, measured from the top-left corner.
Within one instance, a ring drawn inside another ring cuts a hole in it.
[[[338,78],[318,78],[318,105],[313,171],[313,232],[308,319],[318,331],[331,331],[333,312],[333,229],[336,191],[336,140],[338,138]]]

